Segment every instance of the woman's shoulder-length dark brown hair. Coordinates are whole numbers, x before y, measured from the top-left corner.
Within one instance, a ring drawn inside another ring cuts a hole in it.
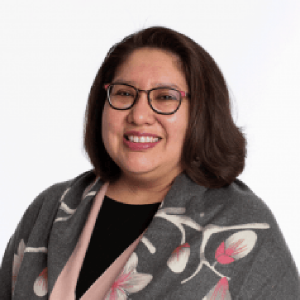
[[[230,184],[244,169],[246,140],[233,122],[224,77],[200,45],[164,27],[143,29],[115,44],[96,75],[86,108],[84,141],[95,173],[105,181],[115,181],[121,174],[102,141],[103,86],[113,80],[117,68],[134,50],[144,47],[174,53],[181,61],[190,92],[189,125],[182,152],[184,172],[206,187]]]

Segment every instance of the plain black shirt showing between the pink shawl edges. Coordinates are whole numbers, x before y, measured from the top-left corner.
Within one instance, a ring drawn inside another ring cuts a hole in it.
[[[114,260],[148,227],[160,203],[134,205],[104,197],[79,273],[79,299]]]

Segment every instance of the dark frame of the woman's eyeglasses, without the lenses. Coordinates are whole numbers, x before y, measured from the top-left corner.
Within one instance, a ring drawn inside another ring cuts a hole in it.
[[[126,108],[117,108],[115,106],[112,105],[111,101],[110,101],[110,90],[111,88],[114,86],[114,85],[125,85],[125,86],[128,86],[128,87],[131,87],[133,88],[135,91],[136,91],[136,96],[135,96],[135,99],[133,100],[132,104]],[[156,110],[152,104],[151,104],[151,99],[150,99],[150,93],[152,91],[155,91],[155,90],[162,90],[162,89],[169,89],[169,90],[173,90],[173,91],[177,91],[179,92],[179,95],[180,95],[180,99],[179,99],[179,105],[178,107],[170,112],[170,113],[165,113],[165,112],[162,112],[162,111],[159,111],[159,110]],[[189,93],[187,92],[184,92],[184,91],[179,91],[177,89],[174,89],[174,88],[171,88],[171,87],[156,87],[156,88],[153,88],[151,90],[141,90],[141,89],[138,89],[136,88],[135,86],[133,85],[130,85],[130,84],[127,84],[127,83],[121,83],[121,82],[115,82],[115,83],[110,83],[110,84],[105,84],[104,85],[104,89],[107,91],[107,99],[108,99],[108,103],[109,105],[113,108],[113,109],[116,109],[116,110],[128,110],[130,108],[132,108],[134,106],[134,104],[136,103],[137,99],[139,98],[139,92],[145,92],[147,93],[147,99],[148,99],[148,104],[149,106],[151,107],[151,109],[156,112],[157,114],[160,114],[160,115],[173,115],[176,113],[176,111],[179,109],[180,105],[181,105],[181,101],[182,101],[182,97],[189,97]]]

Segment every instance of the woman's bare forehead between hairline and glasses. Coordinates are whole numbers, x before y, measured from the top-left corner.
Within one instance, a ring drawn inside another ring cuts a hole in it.
[[[169,51],[156,48],[137,49],[116,70],[114,81],[145,84],[170,82],[186,89],[186,79],[180,66],[179,57]]]

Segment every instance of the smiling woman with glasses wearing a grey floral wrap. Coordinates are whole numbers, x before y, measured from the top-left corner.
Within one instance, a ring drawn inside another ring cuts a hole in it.
[[[152,27],[113,46],[85,148],[93,171],[24,214],[1,299],[300,299],[274,217],[236,179],[245,139],[224,78],[193,40]]]

